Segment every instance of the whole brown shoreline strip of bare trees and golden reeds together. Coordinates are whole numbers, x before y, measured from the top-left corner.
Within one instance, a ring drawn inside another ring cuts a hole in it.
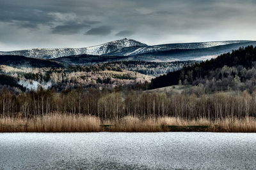
[[[0,92],[1,132],[256,132],[256,93]]]

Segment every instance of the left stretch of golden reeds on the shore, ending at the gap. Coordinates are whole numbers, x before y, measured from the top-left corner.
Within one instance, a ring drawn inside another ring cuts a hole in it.
[[[0,118],[0,132],[98,132],[100,120],[83,115],[54,113],[36,118]]]

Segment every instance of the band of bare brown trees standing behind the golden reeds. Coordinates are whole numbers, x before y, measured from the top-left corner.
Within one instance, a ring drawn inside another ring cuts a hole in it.
[[[117,92],[73,89],[63,92],[40,89],[14,94],[0,92],[1,117],[44,117],[52,113],[92,115],[104,120],[125,116],[207,118],[255,117],[256,92],[234,94],[175,94],[172,92]]]

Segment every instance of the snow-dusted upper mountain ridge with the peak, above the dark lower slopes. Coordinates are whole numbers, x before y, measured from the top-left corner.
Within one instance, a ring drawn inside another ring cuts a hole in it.
[[[146,45],[134,39],[119,39],[96,46],[84,48],[33,48],[30,50],[18,50],[0,52],[0,55],[22,55],[36,59],[56,59],[71,55],[106,55],[106,56],[136,56],[144,53],[163,52],[175,49],[201,49],[212,46],[229,45],[236,43],[252,43],[254,41],[209,41],[201,43],[172,43],[164,45]],[[256,42],[256,41],[255,41]]]

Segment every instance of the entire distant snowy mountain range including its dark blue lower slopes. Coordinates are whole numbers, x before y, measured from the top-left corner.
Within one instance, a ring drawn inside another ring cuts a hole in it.
[[[248,45],[256,46],[256,41],[212,41],[150,46],[134,39],[125,38],[85,48],[35,48],[31,50],[0,52],[0,55],[21,55],[35,59],[54,59],[64,64],[82,62],[82,65],[112,60],[166,62],[173,60],[211,59],[221,53],[231,52],[241,46]]]

